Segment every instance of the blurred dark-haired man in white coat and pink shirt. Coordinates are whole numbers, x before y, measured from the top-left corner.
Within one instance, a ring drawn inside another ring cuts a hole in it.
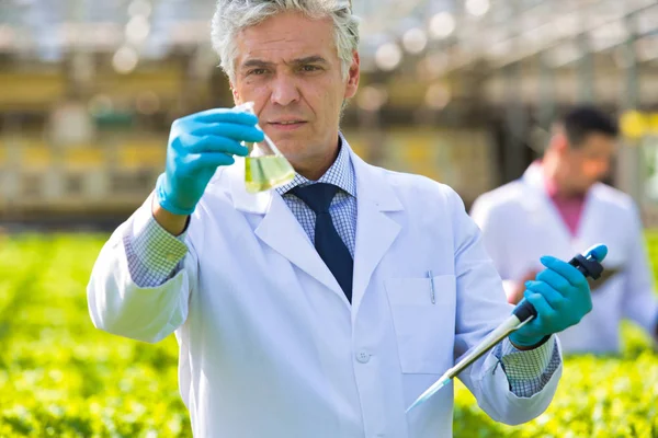
[[[619,353],[622,319],[658,337],[658,302],[638,209],[629,196],[600,182],[616,137],[616,125],[602,112],[571,110],[555,125],[543,159],[520,180],[481,195],[470,210],[512,303],[523,298],[541,254],[566,257],[605,241],[606,270],[592,286],[593,310],[559,334],[568,353]]]

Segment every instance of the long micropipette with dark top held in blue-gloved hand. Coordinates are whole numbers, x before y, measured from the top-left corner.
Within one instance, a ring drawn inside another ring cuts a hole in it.
[[[577,254],[569,261],[569,264],[576,267],[586,278],[592,277],[593,279],[598,279],[603,272],[601,262],[605,258],[605,255],[608,255],[608,247],[601,244],[594,245],[583,254]],[[514,308],[512,314],[507,320],[476,345],[473,350],[466,354],[458,364],[445,371],[436,382],[420,394],[420,396],[418,396],[418,399],[416,399],[416,401],[407,408],[407,413],[429,400],[436,391],[449,384],[450,381],[466,367],[479,359],[485,353],[509,336],[510,333],[527,324],[536,315],[537,311],[535,308],[523,299],[519,306]]]

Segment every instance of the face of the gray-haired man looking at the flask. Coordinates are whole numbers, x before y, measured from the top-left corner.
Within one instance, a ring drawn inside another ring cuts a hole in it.
[[[285,12],[237,36],[236,104],[253,101],[259,125],[299,170],[334,154],[341,105],[359,84],[359,55],[343,79],[333,23]]]

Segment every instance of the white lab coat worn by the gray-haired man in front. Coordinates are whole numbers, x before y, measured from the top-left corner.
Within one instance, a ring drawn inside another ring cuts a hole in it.
[[[122,244],[150,201],[103,247],[88,288],[93,323],[145,342],[175,331],[196,437],[452,436],[452,384],[405,408],[511,306],[453,191],[350,153],[359,211],[352,306],[283,198],[245,191],[240,159],[208,185],[184,269],[162,286],[133,283]],[[494,419],[519,424],[547,407],[560,374],[561,365],[541,392],[518,397],[487,355],[462,380]]]

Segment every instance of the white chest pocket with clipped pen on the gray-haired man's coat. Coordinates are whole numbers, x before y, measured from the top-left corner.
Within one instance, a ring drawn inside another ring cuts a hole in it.
[[[444,372],[454,355],[455,276],[389,278],[385,286],[402,372]]]

